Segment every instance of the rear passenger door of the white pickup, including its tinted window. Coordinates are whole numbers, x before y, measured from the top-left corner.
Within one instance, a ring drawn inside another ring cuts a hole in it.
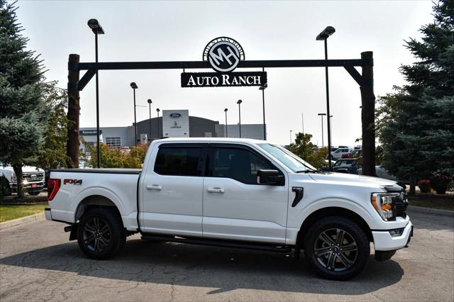
[[[141,229],[201,236],[203,173],[208,144],[165,143],[153,150],[143,179]]]

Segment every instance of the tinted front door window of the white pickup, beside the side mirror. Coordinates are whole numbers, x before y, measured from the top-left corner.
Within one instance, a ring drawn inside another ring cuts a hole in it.
[[[211,177],[226,177],[257,184],[258,170],[275,169],[253,152],[241,148],[220,147],[214,149]]]

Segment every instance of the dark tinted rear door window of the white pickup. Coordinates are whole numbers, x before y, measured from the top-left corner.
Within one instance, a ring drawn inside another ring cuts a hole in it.
[[[155,172],[161,175],[201,176],[201,147],[163,147],[157,152]]]

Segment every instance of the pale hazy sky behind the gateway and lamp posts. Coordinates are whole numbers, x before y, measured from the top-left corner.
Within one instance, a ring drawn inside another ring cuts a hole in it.
[[[49,80],[67,85],[67,58],[80,55],[94,61],[94,35],[87,26],[97,18],[106,31],[99,36],[99,61],[201,60],[206,43],[218,36],[237,40],[246,60],[322,59],[323,43],[316,35],[326,26],[336,33],[328,39],[328,57],[360,58],[373,51],[375,95],[404,84],[401,64],[414,62],[403,46],[418,29],[432,21],[431,1],[18,1],[28,47],[42,54]],[[239,71],[239,69],[237,69]],[[192,72],[208,70],[187,70]],[[155,108],[189,109],[192,116],[262,122],[262,94],[257,87],[198,88],[179,86],[182,70],[101,71],[101,126],[132,125],[133,94],[137,104],[153,100]],[[289,130],[304,130],[321,145],[321,121],[326,112],[323,68],[267,69],[265,108],[268,140],[289,142]],[[333,145],[355,145],[360,137],[360,91],[344,69],[330,68]],[[82,74],[81,74],[82,76]],[[81,91],[81,127],[96,125],[94,80]],[[138,121],[148,108],[138,107]],[[326,120],[325,120],[326,125]],[[325,127],[326,130],[326,127]],[[326,133],[325,133],[326,143]]]

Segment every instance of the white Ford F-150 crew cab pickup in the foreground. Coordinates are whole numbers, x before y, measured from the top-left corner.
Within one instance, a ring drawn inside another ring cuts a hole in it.
[[[126,237],[304,250],[315,271],[348,279],[406,247],[413,225],[395,181],[319,172],[278,145],[236,138],[167,138],[143,169],[50,173],[45,217],[70,224],[90,258],[118,253]]]

